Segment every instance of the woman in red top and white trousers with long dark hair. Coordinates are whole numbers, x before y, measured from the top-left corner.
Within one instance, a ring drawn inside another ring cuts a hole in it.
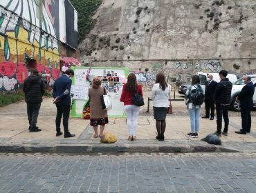
[[[132,103],[132,98],[136,92],[143,96],[141,85],[138,85],[135,74],[131,73],[127,78],[127,83],[125,83],[122,87],[122,95],[120,98],[120,101],[124,102],[125,112],[127,114],[129,141],[136,140],[136,132],[138,127],[138,113],[140,111],[140,107],[133,105]]]

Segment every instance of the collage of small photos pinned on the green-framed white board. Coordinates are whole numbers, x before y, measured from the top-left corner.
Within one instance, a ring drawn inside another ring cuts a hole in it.
[[[102,78],[102,86],[106,88],[107,92],[118,92],[122,87],[122,83],[120,83],[120,77],[118,77],[118,73],[115,70],[103,70]]]

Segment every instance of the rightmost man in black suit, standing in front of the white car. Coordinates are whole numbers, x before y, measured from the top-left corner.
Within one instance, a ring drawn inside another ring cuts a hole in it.
[[[239,106],[241,108],[241,130],[235,131],[237,134],[246,134],[250,132],[251,127],[251,116],[250,108],[253,107],[253,94],[255,91],[255,86],[250,81],[250,77],[243,77],[244,83],[246,85],[242,88],[241,92],[237,96],[237,101],[239,101]]]

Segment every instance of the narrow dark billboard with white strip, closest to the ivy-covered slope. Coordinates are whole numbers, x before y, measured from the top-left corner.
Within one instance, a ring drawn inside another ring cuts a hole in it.
[[[66,10],[66,43],[77,48],[77,12],[71,3],[65,1]]]

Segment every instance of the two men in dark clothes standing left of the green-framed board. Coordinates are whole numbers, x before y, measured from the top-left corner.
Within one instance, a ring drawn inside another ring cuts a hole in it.
[[[71,69],[63,72],[62,77],[58,78],[54,85],[52,94],[54,97],[53,103],[57,108],[57,115],[55,118],[56,136],[62,135],[60,130],[60,123],[63,116],[64,138],[73,137],[75,134],[71,134],[68,130],[68,119],[71,107],[71,77],[73,77],[74,71]],[[25,93],[25,101],[27,103],[27,114],[30,132],[40,132],[41,129],[37,127],[37,118],[39,115],[39,109],[43,101],[43,95],[45,92],[45,85],[42,77],[39,76],[37,69],[30,70],[30,76],[24,81],[23,91]]]

